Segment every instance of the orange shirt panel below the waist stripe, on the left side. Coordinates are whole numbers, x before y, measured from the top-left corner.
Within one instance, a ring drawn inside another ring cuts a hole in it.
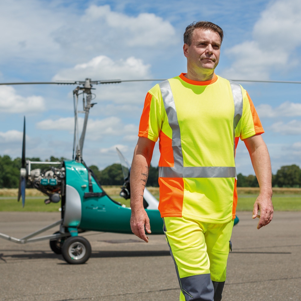
[[[159,178],[161,217],[182,217],[184,181],[183,178]],[[164,211],[163,211],[164,210]]]

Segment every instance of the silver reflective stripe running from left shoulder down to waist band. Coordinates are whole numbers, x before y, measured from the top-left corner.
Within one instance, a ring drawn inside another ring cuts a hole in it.
[[[168,80],[159,83],[164,108],[167,114],[169,126],[172,129],[172,150],[175,166],[183,166],[183,153],[181,145],[181,132],[178,123],[177,110],[175,109],[175,101],[171,92]]]

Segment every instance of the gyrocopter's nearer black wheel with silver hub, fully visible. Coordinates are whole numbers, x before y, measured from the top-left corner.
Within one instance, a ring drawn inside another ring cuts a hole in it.
[[[91,255],[91,245],[85,237],[68,237],[63,244],[62,255],[68,263],[85,263]]]

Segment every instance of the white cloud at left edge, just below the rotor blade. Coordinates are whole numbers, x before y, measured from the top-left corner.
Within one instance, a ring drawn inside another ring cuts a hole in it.
[[[23,97],[11,86],[0,87],[0,110],[8,113],[41,112],[45,110],[42,96]]]

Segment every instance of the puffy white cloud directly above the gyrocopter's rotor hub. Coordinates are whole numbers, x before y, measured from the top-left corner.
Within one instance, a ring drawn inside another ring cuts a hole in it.
[[[87,63],[59,71],[52,80],[83,80],[87,77],[93,80],[144,79],[149,76],[150,67],[135,57],[113,61],[110,57],[100,55]]]

